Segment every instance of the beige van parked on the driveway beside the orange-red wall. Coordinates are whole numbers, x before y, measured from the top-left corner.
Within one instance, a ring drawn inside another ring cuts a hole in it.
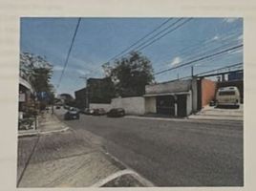
[[[216,107],[219,106],[234,106],[239,108],[240,93],[237,87],[228,86],[220,88],[216,94]]]

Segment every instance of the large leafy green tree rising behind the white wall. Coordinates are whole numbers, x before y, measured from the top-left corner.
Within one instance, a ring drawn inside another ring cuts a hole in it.
[[[105,74],[112,78],[117,96],[142,96],[145,94],[145,85],[154,80],[150,60],[138,52],[117,59],[114,67],[110,63],[102,67]]]

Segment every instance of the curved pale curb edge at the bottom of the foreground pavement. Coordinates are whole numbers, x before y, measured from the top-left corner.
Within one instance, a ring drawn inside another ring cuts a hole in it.
[[[133,170],[129,170],[129,169],[125,169],[125,170],[120,170],[117,171],[116,173],[108,176],[107,178],[103,179],[103,180],[99,180],[97,181],[95,184],[93,184],[91,187],[101,187],[104,184],[106,184],[107,182],[111,181],[111,180],[115,180],[118,177],[121,177],[123,175],[131,175],[133,176],[133,178],[135,178],[136,180],[138,180],[142,185],[144,186],[148,186],[148,187],[152,187],[154,186],[154,184],[152,182],[150,182],[149,180],[145,180],[144,178],[142,178],[141,176],[139,176],[138,173],[134,172]]]

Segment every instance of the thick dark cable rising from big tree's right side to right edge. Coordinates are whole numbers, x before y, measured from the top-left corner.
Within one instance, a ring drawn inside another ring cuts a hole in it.
[[[225,49],[224,51],[221,51],[221,52],[218,52],[218,53],[212,53],[212,54],[205,55],[205,56],[203,56],[203,57],[194,59],[194,60],[192,60],[192,61],[188,61],[188,62],[186,62],[186,63],[183,63],[183,64],[181,64],[181,65],[179,65],[179,66],[176,66],[176,67],[173,67],[173,68],[170,68],[170,69],[166,69],[166,70],[160,71],[160,72],[158,72],[158,73],[155,73],[154,75],[162,74],[162,73],[165,73],[165,72],[168,72],[168,71],[172,71],[172,70],[174,70],[174,69],[177,69],[177,68],[181,68],[181,67],[183,67],[183,66],[190,65],[190,64],[192,64],[192,63],[194,63],[194,62],[198,62],[198,61],[201,61],[201,60],[203,60],[203,59],[207,59],[207,58],[212,57],[212,56],[216,56],[216,55],[219,55],[219,54],[222,54],[222,53],[227,53],[227,52],[229,52],[229,51],[238,49],[238,48],[240,48],[240,47],[243,47],[243,44],[238,45],[238,46],[234,46],[234,47],[231,47],[231,48],[228,48],[228,49]]]

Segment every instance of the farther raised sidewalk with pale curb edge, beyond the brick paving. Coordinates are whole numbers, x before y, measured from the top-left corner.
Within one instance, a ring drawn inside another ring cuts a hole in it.
[[[23,130],[18,132],[18,137],[36,136],[67,131],[69,127],[61,122],[55,115],[44,112],[38,117],[38,127],[35,130]]]

